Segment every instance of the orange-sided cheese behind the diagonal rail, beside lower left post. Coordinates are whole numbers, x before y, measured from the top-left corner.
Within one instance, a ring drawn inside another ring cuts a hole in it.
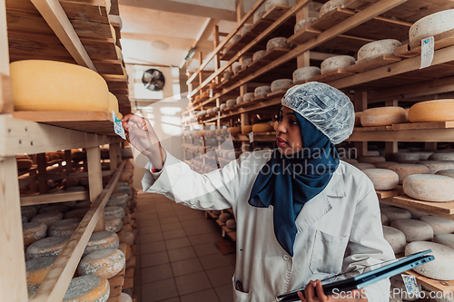
[[[29,290],[35,293],[41,283],[43,283],[56,258],[58,256],[44,256],[25,261],[27,287]]]

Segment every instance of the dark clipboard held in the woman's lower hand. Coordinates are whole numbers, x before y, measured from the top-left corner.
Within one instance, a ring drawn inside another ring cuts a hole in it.
[[[426,255],[431,251],[432,251],[431,249],[420,251],[418,253],[411,254],[407,257],[397,259],[396,261],[384,265],[380,268],[372,269],[358,276],[332,282],[329,284],[322,284],[323,292],[325,293],[325,295],[329,296],[335,292],[337,293],[347,292],[353,289],[367,287],[372,283],[398,275],[411,268],[417,268],[420,265],[426,264],[434,260],[435,258],[432,255]],[[382,262],[382,264],[384,263],[385,262]],[[278,296],[279,299],[278,301],[279,302],[300,301],[300,297],[298,297],[297,294],[298,291],[301,291],[301,293],[304,294],[304,287],[291,291],[290,293]]]

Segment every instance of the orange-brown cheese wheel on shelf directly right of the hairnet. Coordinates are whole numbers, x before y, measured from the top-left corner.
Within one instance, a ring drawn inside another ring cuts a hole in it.
[[[361,125],[364,127],[390,126],[405,122],[405,110],[398,106],[366,109],[361,113]]]

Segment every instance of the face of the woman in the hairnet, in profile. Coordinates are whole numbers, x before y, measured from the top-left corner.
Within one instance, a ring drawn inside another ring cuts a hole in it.
[[[279,124],[276,129],[278,151],[291,155],[302,150],[301,130],[295,113],[282,106],[279,112]]]

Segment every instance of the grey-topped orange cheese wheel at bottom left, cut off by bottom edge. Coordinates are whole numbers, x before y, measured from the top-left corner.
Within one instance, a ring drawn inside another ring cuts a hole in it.
[[[110,289],[106,278],[96,275],[77,277],[71,280],[62,302],[106,302]]]

